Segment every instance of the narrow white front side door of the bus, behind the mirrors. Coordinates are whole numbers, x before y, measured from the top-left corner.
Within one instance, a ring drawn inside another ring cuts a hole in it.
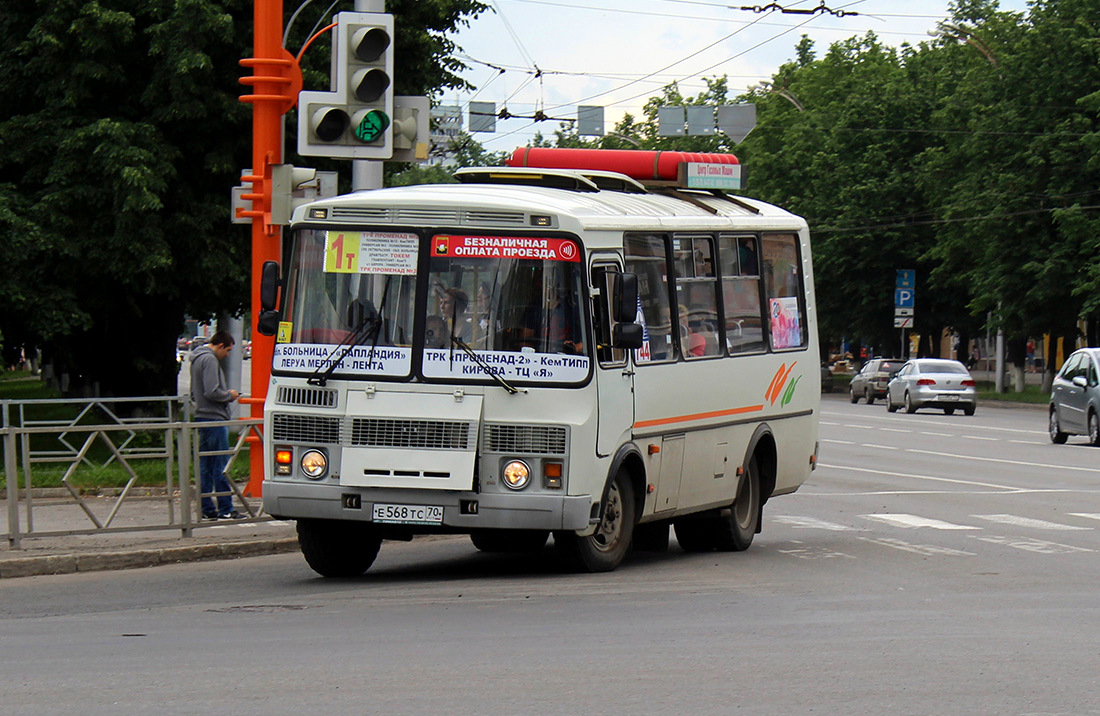
[[[630,352],[612,348],[610,282],[608,275],[623,271],[615,254],[592,258],[592,322],[596,340],[596,390],[598,426],[596,454],[613,455],[630,439],[634,428],[634,367]]]

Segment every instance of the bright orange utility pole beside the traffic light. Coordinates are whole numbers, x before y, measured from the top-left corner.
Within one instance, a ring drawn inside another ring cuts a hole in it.
[[[282,229],[272,219],[272,165],[283,163],[283,115],[298,101],[301,91],[301,69],[283,47],[283,0],[255,0],[253,9],[253,56],[241,65],[253,70],[241,78],[252,87],[252,93],[241,97],[252,104],[252,201],[251,211],[239,216],[252,218],[252,385],[250,397],[242,403],[251,406],[252,418],[263,418],[264,399],[271,383],[274,339],[256,330],[260,317],[260,275],[265,261],[282,260]],[[258,497],[264,476],[264,455],[260,440],[250,436],[251,471],[245,494]]]

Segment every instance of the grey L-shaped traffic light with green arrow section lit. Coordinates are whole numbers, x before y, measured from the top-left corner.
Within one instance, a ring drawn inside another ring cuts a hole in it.
[[[341,12],[334,89],[298,96],[298,154],[388,159],[394,135],[394,16]]]

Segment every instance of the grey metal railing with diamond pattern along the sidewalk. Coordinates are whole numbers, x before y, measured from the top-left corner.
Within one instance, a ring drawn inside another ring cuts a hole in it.
[[[0,400],[3,537],[13,550],[21,549],[25,537],[144,530],[179,530],[190,537],[215,524],[202,521],[201,498],[227,494],[200,492],[200,459],[228,455],[229,476],[242,452],[263,449],[261,423],[195,422],[188,401],[178,397]],[[200,451],[197,430],[220,426],[229,427],[229,450]],[[248,464],[246,454],[243,460]],[[97,482],[79,480],[95,472],[123,484],[95,492],[80,487],[81,482]],[[47,476],[59,487],[43,487]],[[246,513],[242,521],[271,519],[258,497],[246,497],[232,478],[228,482]]]

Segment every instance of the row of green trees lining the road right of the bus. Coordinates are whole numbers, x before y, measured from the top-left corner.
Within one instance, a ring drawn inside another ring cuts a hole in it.
[[[899,268],[916,269],[926,337],[1075,335],[1078,321],[1100,321],[1100,0],[952,8],[917,46],[868,33],[820,55],[802,37],[792,62],[739,98],[725,78],[697,97],[670,85],[615,134],[640,148],[730,151],[723,137],[658,136],[657,108],[755,102],[757,128],[736,154],[751,196],[810,223],[825,344],[890,352]],[[539,141],[627,146],[568,131]]]

